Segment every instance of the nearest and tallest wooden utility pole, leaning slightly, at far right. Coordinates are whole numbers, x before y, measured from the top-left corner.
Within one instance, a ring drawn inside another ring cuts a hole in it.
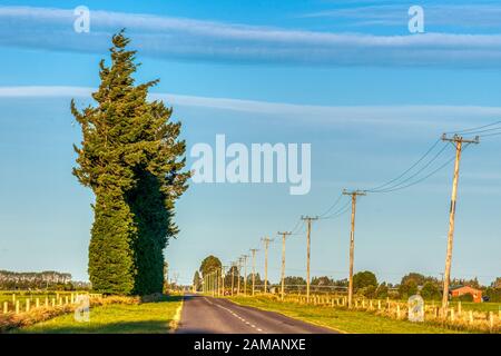
[[[445,270],[443,274],[443,294],[442,294],[442,317],[446,316],[449,306],[449,284],[451,281],[451,261],[452,261],[452,245],[454,241],[454,219],[455,219],[455,201],[458,198],[458,180],[460,171],[461,152],[463,145],[480,144],[480,138],[477,136],[474,139],[464,139],[459,135],[454,135],[449,138],[445,134],[442,135],[442,140],[451,142],[455,147],[455,164],[454,164],[454,178],[452,181],[452,195],[451,207],[449,211],[449,234],[448,234],[448,251],[445,255]]]

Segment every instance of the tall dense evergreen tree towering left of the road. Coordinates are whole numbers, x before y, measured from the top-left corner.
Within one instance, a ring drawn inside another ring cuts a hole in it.
[[[187,189],[186,145],[171,109],[147,101],[158,80],[135,85],[136,51],[120,31],[112,38],[111,65],[100,62],[97,106],[82,111],[81,148],[73,175],[96,196],[89,247],[92,287],[109,294],[161,293],[163,250],[177,234],[174,204]]]

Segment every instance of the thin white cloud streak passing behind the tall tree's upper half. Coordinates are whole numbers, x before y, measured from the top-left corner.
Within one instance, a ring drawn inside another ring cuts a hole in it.
[[[88,87],[0,87],[1,98],[78,98],[91,100],[95,88]],[[483,125],[501,117],[501,107],[479,106],[316,106],[269,102],[234,98],[210,98],[175,93],[150,95],[169,106],[209,108],[216,110],[274,116],[288,122],[307,121],[317,125],[364,123],[376,126],[414,126],[438,130],[464,129]]]

